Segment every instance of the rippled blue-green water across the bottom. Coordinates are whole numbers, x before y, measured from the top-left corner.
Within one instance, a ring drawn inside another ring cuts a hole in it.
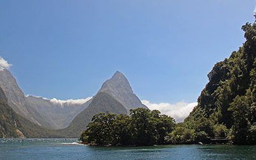
[[[0,159],[256,159],[256,146],[90,147],[76,139],[0,139]]]

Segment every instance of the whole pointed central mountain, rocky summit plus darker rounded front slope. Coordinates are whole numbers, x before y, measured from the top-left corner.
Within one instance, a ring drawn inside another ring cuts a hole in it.
[[[88,108],[79,113],[70,125],[61,130],[68,137],[79,137],[97,113],[128,114],[129,109],[147,108],[133,93],[129,81],[121,72],[115,74],[102,84],[99,92],[93,97]]]

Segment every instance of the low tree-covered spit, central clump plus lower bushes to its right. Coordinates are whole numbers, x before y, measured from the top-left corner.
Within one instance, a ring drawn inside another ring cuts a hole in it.
[[[212,126],[202,118],[195,122],[195,129],[159,111],[145,108],[131,109],[130,115],[99,113],[94,115],[80,140],[90,145],[164,145],[209,143],[209,136],[226,136],[224,125]],[[223,132],[224,131],[224,132]]]

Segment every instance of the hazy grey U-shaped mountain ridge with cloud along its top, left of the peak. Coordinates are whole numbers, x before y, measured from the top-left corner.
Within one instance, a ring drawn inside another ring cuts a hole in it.
[[[3,88],[9,106],[16,113],[48,129],[67,127],[73,118],[90,104],[90,99],[80,100],[81,102],[58,102],[42,97],[25,96],[7,69],[0,70],[0,87]]]

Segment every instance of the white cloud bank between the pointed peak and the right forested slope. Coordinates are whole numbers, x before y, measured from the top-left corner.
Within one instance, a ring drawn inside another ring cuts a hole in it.
[[[161,114],[172,116],[176,122],[183,122],[189,113],[195,108],[197,102],[186,103],[184,101],[177,102],[176,104],[170,103],[150,103],[148,100],[141,100],[149,109],[157,109]]]

